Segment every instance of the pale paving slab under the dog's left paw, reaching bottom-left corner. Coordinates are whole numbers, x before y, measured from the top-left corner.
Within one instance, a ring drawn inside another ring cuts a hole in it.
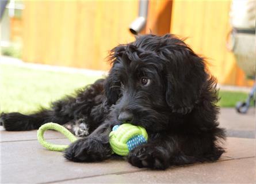
[[[63,139],[51,141],[69,143]],[[48,151],[33,140],[5,142],[1,143],[1,148],[2,183],[44,183],[140,170],[124,159],[100,163],[69,162],[62,152]]]

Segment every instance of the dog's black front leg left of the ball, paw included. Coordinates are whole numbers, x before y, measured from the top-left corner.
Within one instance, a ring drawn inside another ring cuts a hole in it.
[[[73,162],[94,162],[110,158],[109,133],[113,124],[105,122],[84,139],[70,144],[64,157]]]

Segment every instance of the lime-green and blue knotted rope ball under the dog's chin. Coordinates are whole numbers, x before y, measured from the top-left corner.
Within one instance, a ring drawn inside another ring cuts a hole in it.
[[[112,151],[126,156],[138,145],[147,143],[146,129],[131,124],[115,125],[109,134],[109,143]]]

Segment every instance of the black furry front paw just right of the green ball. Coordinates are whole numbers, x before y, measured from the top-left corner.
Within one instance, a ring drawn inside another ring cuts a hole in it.
[[[128,161],[133,166],[162,170],[169,166],[168,158],[165,150],[147,144],[136,147],[128,155]]]

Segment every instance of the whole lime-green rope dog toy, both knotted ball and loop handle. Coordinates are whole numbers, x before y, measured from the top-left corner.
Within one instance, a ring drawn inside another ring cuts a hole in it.
[[[77,137],[62,125],[49,122],[42,125],[37,131],[37,140],[43,147],[47,148],[47,150],[64,151],[68,148],[68,145],[52,144],[45,141],[44,132],[48,129],[54,129],[55,131],[62,133],[71,141],[71,143],[78,140]],[[109,144],[113,153],[121,156],[126,156],[129,154],[129,151],[133,150],[138,145],[147,143],[147,139],[148,135],[146,129],[131,124],[116,125],[109,134]]]

